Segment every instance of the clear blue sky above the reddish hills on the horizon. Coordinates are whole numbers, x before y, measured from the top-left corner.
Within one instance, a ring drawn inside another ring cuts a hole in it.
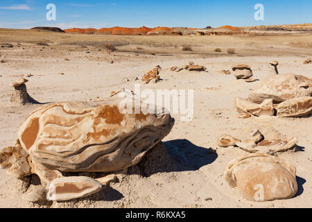
[[[56,6],[56,20],[46,20],[46,5]],[[254,19],[254,6],[264,6],[264,21]],[[311,0],[0,0],[1,28],[256,26],[312,23]]]

